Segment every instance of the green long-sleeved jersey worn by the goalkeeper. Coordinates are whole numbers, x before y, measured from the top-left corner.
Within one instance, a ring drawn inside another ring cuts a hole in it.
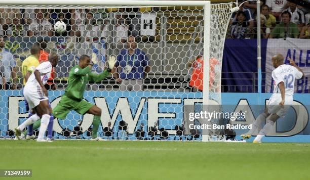
[[[65,89],[65,96],[75,101],[81,101],[88,81],[100,82],[109,75],[108,71],[100,74],[91,73],[87,66],[82,69],[79,65],[74,66],[69,73],[68,86]]]

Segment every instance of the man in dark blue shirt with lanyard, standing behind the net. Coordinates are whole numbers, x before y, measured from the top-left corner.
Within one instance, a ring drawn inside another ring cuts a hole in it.
[[[150,71],[146,54],[137,48],[133,36],[127,40],[127,50],[122,50],[117,57],[115,67],[119,73],[116,74],[117,82],[121,83],[121,91],[143,91],[143,79]]]

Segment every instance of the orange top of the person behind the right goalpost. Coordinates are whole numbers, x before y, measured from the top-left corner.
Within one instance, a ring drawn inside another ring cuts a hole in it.
[[[219,64],[219,61],[215,58],[210,59],[210,81],[209,87],[212,86],[215,80],[215,66]],[[203,77],[204,77],[204,60],[203,57],[199,57],[195,62],[192,63],[192,75],[189,81],[189,85],[198,88],[203,91]]]

